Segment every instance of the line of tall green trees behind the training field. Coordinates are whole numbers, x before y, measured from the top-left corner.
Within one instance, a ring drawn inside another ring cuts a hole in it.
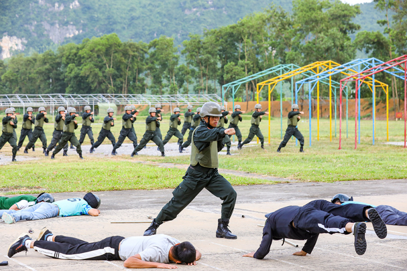
[[[0,61],[0,93],[220,94],[225,83],[279,64],[304,66],[328,59],[346,63],[358,49],[383,61],[405,54],[407,1],[374,2],[377,10],[386,12],[378,21],[383,32],[360,31],[353,21],[359,6],[338,0],[294,0],[291,13],[272,5],[236,24],[190,34],[182,46],[165,36],[145,43],[122,42],[110,34],[56,51],[18,54]],[[264,79],[268,78],[246,83],[235,97],[254,100],[256,83]],[[394,99],[403,98],[396,79],[387,74],[376,79],[391,84]],[[362,88],[362,97],[371,97],[369,92]],[[328,88],[322,88],[324,95]],[[377,96],[378,102],[385,97],[380,91]]]

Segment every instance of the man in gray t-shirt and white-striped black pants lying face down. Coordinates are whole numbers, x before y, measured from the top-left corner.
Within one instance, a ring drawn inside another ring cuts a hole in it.
[[[99,242],[88,243],[83,240],[53,235],[47,227],[43,228],[34,241],[28,235],[20,235],[10,245],[8,256],[34,249],[54,259],[66,260],[123,260],[127,268],[178,268],[168,263],[196,265],[201,254],[189,242],[180,242],[168,235],[152,236],[110,236]]]

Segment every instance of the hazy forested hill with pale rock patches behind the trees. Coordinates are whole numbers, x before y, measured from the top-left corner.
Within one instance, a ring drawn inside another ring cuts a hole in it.
[[[236,23],[271,4],[292,8],[285,0],[0,0],[0,58],[110,33],[122,41],[144,42],[165,35],[181,44],[189,33]],[[361,30],[379,29],[373,6],[361,5],[355,19]]]

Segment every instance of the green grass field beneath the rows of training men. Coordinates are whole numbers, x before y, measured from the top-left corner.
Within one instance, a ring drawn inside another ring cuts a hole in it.
[[[168,117],[166,117],[168,120]],[[144,132],[144,117],[138,117],[135,130],[138,140]],[[113,127],[113,134],[118,138],[121,121]],[[283,130],[286,128],[286,119],[283,119]],[[19,128],[17,136],[19,137]],[[239,124],[243,138],[246,138],[250,128],[249,116]],[[280,119],[271,121],[270,145],[268,144],[268,122],[264,119],[260,124],[261,131],[266,138],[266,149],[259,145],[246,145],[243,150],[232,150],[231,157],[221,156],[219,168],[233,169],[263,175],[299,179],[304,182],[335,182],[337,180],[360,179],[391,179],[407,177],[407,150],[402,146],[386,145],[386,122],[376,121],[375,145],[372,145],[372,121],[364,120],[361,124],[361,144],[354,149],[355,122],[349,121],[346,138],[345,123],[342,131],[342,149],[338,149],[339,123],[337,124],[337,137],[335,138],[334,123],[332,142],[329,139],[329,120],[320,120],[320,136],[317,140],[316,119],[312,119],[312,146],[309,147],[308,119],[302,120],[299,129],[305,137],[305,153],[299,153],[299,146],[291,140],[282,153],[276,153],[280,143]],[[93,125],[95,139],[101,125]],[[78,128],[76,135],[79,137]],[[168,130],[168,121],[162,122],[161,131],[165,136]],[[51,140],[53,125],[45,126],[48,144]],[[390,122],[389,141],[403,141],[404,123]],[[187,138],[188,133],[185,135]],[[237,141],[237,138],[235,138]],[[28,142],[24,142],[24,145]],[[130,142],[126,140],[125,142]],[[170,142],[176,142],[172,138]],[[105,140],[104,143],[110,143]],[[86,137],[84,144],[90,144]],[[40,150],[41,142],[36,143]],[[225,149],[224,149],[225,150]],[[11,155],[9,145],[0,150],[0,156]],[[21,152],[18,155],[22,155]],[[30,193],[47,190],[51,192],[65,191],[102,191],[127,189],[161,189],[176,187],[182,180],[185,171],[177,168],[161,168],[146,164],[130,163],[131,160],[168,162],[189,164],[189,156],[182,157],[152,157],[128,156],[96,157],[84,154],[84,161],[77,157],[60,158],[52,161],[42,157],[37,151],[30,152],[28,156],[40,157],[39,160],[17,162],[12,165],[1,166],[0,189],[7,193]],[[17,157],[18,159],[18,157]],[[233,185],[269,184],[262,179],[251,179],[240,176],[225,175]]]

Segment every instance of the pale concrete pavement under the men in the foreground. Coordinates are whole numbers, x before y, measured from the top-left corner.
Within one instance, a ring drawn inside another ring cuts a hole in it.
[[[392,205],[407,209],[407,183],[402,180],[370,180],[336,183],[286,183],[235,187],[238,200],[230,219],[232,233],[237,240],[215,237],[217,219],[220,218],[221,200],[204,190],[173,221],[164,223],[158,233],[168,234],[181,241],[190,241],[202,253],[196,266],[178,264],[180,270],[405,270],[407,267],[407,227],[388,226],[388,235],[379,239],[367,223],[367,250],[356,254],[353,235],[320,234],[311,255],[293,256],[305,244],[303,240],[290,240],[295,248],[282,241],[274,241],[270,253],[263,260],[242,257],[255,251],[261,241],[264,215],[287,205],[303,205],[314,199],[330,199],[336,193],[346,193],[358,201]],[[38,236],[47,226],[54,234],[75,236],[94,242],[111,235],[142,235],[149,224],[111,224],[110,221],[148,221],[171,198],[172,189],[154,191],[98,192],[102,199],[99,217],[78,216],[21,221],[6,225],[0,223],[0,261],[8,266],[1,270],[120,270],[123,261],[72,261],[48,258],[34,250],[25,255],[6,257],[10,243],[29,229]],[[81,197],[84,193],[54,194],[55,200]],[[244,216],[244,217],[243,217]]]

